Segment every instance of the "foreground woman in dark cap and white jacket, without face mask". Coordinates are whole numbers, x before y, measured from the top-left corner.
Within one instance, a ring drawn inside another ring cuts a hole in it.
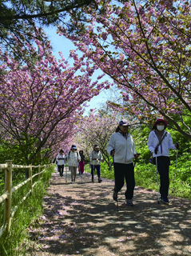
[[[126,182],[125,202],[133,206],[133,191],[135,187],[133,158],[138,158],[135,143],[129,134],[129,122],[121,120],[107,146],[108,153],[113,156],[115,185],[113,200],[117,201],[117,193]]]

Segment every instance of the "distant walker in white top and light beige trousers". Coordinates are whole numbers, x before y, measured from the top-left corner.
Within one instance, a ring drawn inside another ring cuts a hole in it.
[[[81,160],[75,145],[71,146],[71,150],[67,154],[66,160],[68,161],[68,165],[71,171],[71,183],[74,183],[76,180],[78,162]]]

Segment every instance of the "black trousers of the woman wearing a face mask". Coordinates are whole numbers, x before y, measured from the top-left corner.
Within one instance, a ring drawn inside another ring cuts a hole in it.
[[[169,194],[169,157],[157,157],[157,171],[160,174],[160,194],[168,197]]]

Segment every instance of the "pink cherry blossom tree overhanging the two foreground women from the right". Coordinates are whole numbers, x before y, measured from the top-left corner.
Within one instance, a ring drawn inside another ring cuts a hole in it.
[[[162,116],[191,139],[191,3],[122,2],[97,1],[99,10],[86,9],[86,30],[68,38],[113,78],[137,118]]]

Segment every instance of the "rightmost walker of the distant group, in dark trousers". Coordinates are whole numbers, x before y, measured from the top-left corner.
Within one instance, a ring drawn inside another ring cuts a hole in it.
[[[101,183],[101,173],[100,173],[100,163],[103,162],[102,154],[99,150],[99,146],[97,144],[94,145],[94,150],[90,153],[90,161],[91,161],[91,174],[92,174],[92,182],[94,182],[94,171],[97,170],[98,182]]]

